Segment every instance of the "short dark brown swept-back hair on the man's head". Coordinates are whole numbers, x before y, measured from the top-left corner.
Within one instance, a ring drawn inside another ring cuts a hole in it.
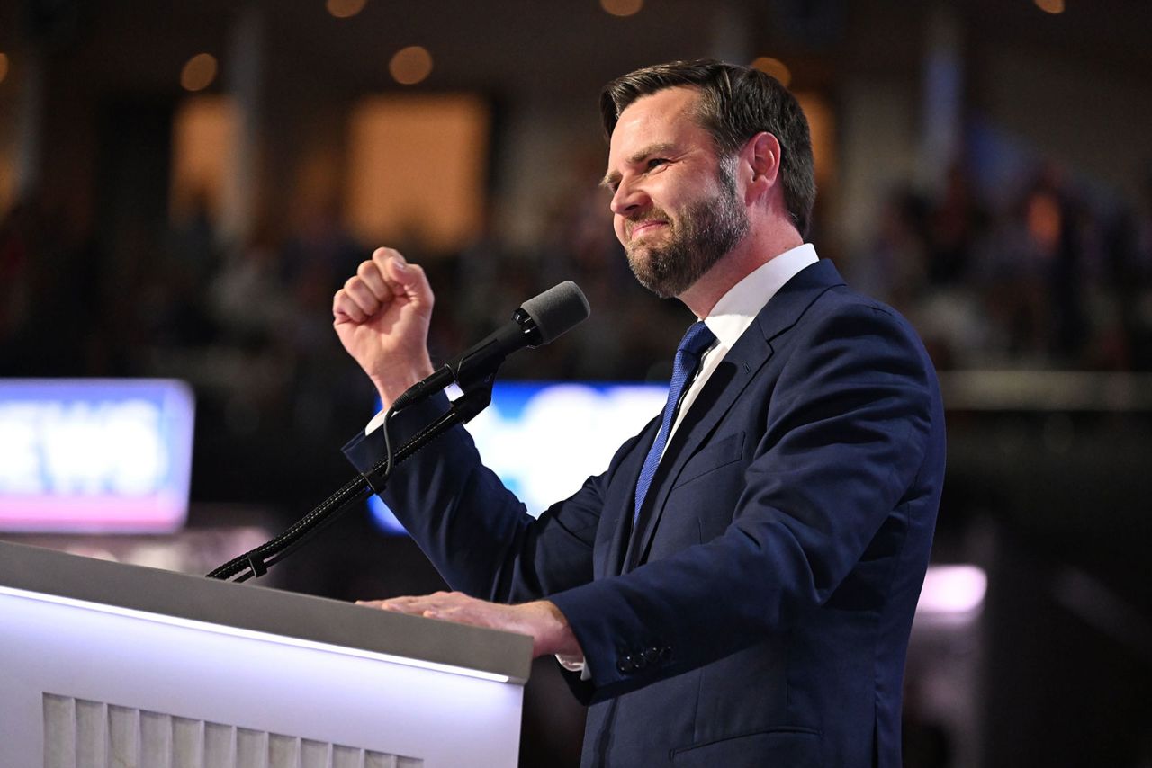
[[[782,155],[785,204],[796,229],[806,237],[816,200],[812,139],[796,97],[771,75],[711,59],[637,69],[612,81],[600,92],[600,112],[608,138],[628,105],[642,96],[676,86],[700,90],[696,119],[712,135],[721,157],[735,154],[760,131],[776,137]]]

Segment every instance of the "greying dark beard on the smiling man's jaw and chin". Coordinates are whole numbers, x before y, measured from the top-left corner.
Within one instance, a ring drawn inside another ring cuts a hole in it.
[[[660,298],[680,296],[691,288],[748,234],[748,213],[736,195],[735,160],[720,161],[717,195],[691,203],[675,219],[652,210],[632,222],[660,219],[669,225],[665,243],[626,246],[632,274]]]

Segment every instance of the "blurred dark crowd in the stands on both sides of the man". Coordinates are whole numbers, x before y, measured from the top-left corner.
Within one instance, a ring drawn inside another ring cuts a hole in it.
[[[1152,370],[1152,176],[1127,206],[1089,199],[1052,169],[1013,197],[991,203],[957,168],[940,195],[893,190],[867,242],[813,241],[854,287],[912,320],[940,368]],[[689,318],[635,283],[604,193],[590,183],[547,219],[531,248],[500,236],[494,210],[455,253],[389,243],[430,272],[433,358],[571,279],[592,304],[589,322],[513,357],[505,375],[664,380]],[[371,245],[341,227],[335,206],[238,248],[221,246],[206,205],[116,242],[105,252],[35,197],[5,214],[0,375],[184,378],[238,433],[270,416],[324,429],[334,409],[370,410],[331,329],[331,299]]]

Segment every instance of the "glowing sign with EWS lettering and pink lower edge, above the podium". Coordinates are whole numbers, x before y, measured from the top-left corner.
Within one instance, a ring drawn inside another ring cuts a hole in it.
[[[180,529],[192,403],[170,380],[0,380],[0,530]]]

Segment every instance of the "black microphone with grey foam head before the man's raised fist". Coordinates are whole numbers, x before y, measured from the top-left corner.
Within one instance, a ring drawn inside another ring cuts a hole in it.
[[[432,375],[416,382],[392,404],[397,412],[420,402],[455,382],[464,391],[486,382],[505,358],[524,347],[540,347],[563,335],[588,319],[591,312],[579,286],[566,280],[535,296],[513,315],[511,321],[462,355],[445,363]]]

